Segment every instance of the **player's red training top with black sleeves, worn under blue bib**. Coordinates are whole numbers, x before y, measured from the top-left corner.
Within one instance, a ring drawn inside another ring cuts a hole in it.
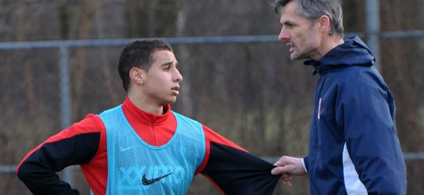
[[[169,104],[163,107],[164,114],[159,116],[138,109],[126,98],[122,111],[138,136],[152,146],[167,143],[177,128]],[[196,174],[203,173],[225,193],[273,192],[279,177],[270,174],[271,164],[250,155],[205,125],[202,127],[206,151]],[[225,162],[222,159],[226,159]],[[80,164],[92,192],[105,194],[108,180],[106,131],[97,115],[87,115],[31,150],[20,162],[17,176],[33,194],[78,194],[78,190],[61,181],[56,174],[56,171],[75,164]],[[252,178],[252,174],[256,177]],[[260,186],[252,185],[252,182]]]

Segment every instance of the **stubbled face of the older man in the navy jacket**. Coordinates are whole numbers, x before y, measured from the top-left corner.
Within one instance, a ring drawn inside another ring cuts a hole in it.
[[[282,7],[282,31],[279,40],[286,42],[290,51],[290,59],[318,60],[320,43],[319,29],[316,23],[312,26],[307,18],[296,13],[297,1],[290,1]]]

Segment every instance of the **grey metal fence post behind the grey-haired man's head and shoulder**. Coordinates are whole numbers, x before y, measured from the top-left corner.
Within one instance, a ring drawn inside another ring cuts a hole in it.
[[[367,35],[368,47],[375,56],[375,68],[381,71],[380,67],[380,0],[367,0],[365,10],[365,31]]]

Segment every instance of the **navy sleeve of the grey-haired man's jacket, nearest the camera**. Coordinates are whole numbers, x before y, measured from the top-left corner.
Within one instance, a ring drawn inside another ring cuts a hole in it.
[[[395,104],[374,68],[339,88],[336,120],[368,194],[406,194],[406,166],[395,125]]]

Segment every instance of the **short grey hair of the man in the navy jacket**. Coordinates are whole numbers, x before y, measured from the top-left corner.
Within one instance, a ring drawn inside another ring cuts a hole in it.
[[[311,22],[322,15],[327,15],[331,24],[330,35],[337,34],[340,38],[344,37],[343,13],[339,0],[277,0],[274,3],[275,12],[279,13],[281,8],[290,1],[297,1],[296,13]]]

